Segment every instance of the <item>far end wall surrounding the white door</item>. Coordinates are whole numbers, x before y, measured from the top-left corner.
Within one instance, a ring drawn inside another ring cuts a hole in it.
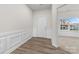
[[[51,38],[51,28],[52,28],[52,13],[51,13],[51,9],[43,9],[43,10],[35,10],[33,11],[33,36],[37,37],[37,30],[38,27],[37,25],[39,24],[38,22],[38,18],[42,19],[42,17],[45,17],[47,19],[47,37]],[[42,22],[42,21],[41,21]],[[42,27],[43,24],[41,24]],[[40,29],[41,29],[40,27]],[[44,37],[44,36],[43,36]]]

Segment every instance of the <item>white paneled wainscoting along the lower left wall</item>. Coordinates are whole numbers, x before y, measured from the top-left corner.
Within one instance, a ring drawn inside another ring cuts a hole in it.
[[[0,33],[0,53],[11,53],[30,38],[32,33],[24,30]]]

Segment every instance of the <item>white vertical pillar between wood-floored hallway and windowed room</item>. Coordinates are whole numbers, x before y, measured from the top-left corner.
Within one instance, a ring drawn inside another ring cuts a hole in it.
[[[59,47],[59,42],[58,42],[58,29],[59,29],[59,21],[57,19],[57,9],[59,7],[64,6],[64,4],[53,4],[52,5],[52,45],[55,46],[56,48]]]

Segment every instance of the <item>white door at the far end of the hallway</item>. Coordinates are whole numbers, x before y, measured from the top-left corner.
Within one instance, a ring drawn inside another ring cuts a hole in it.
[[[37,36],[38,37],[47,37],[47,18],[40,17],[37,21]]]

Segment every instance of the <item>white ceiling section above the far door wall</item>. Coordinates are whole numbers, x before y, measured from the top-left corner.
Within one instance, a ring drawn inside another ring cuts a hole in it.
[[[28,4],[32,10],[41,10],[51,8],[51,4]]]

